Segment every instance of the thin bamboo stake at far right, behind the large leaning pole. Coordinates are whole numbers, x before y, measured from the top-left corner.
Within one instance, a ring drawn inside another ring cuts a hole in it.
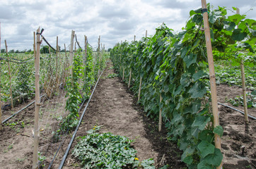
[[[240,15],[239,8],[236,8],[236,14]],[[246,101],[245,68],[243,66],[243,58],[240,63],[240,68],[241,68],[242,86],[243,86],[243,108],[245,109],[245,123],[248,124],[249,119],[248,119],[248,108],[247,108],[247,101]]]

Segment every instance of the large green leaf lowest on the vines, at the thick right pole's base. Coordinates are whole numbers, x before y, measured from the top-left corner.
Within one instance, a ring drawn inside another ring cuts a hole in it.
[[[221,165],[221,161],[223,159],[223,156],[221,154],[220,149],[214,148],[214,154],[208,154],[203,160],[205,163],[208,163],[210,165],[219,166]]]

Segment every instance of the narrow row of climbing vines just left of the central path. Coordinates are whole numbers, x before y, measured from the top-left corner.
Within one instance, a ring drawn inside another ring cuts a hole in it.
[[[100,53],[99,53],[100,54]],[[78,125],[78,110],[81,101],[88,99],[91,95],[91,87],[98,80],[100,71],[105,68],[107,54],[93,56],[93,49],[88,46],[86,58],[81,50],[74,54],[72,75],[66,78],[66,111],[69,114],[62,121],[59,131],[73,130]]]

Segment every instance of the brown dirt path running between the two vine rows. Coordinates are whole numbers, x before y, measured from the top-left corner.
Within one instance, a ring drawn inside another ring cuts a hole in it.
[[[111,66],[108,63],[108,68],[95,89],[76,138],[85,135],[94,125],[104,125],[100,132],[112,132],[135,140],[133,146],[138,151],[139,161],[153,158],[158,168],[165,154],[163,159],[165,164],[175,168],[186,168],[185,164],[180,162],[182,153],[177,148],[177,144],[168,142],[166,131],[158,132],[157,123],[145,117],[145,113],[136,105],[132,93],[127,89],[127,85],[118,77],[107,78],[107,75],[114,73],[114,70],[110,69]],[[77,141],[71,149],[76,143]],[[76,161],[69,155],[64,168],[74,168],[76,165]]]

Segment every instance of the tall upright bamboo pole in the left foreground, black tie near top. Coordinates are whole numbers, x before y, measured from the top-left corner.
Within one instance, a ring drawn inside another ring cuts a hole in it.
[[[39,143],[39,111],[40,111],[40,27],[37,29],[37,54],[35,58],[35,122],[34,122],[34,149],[33,169],[38,168]]]

